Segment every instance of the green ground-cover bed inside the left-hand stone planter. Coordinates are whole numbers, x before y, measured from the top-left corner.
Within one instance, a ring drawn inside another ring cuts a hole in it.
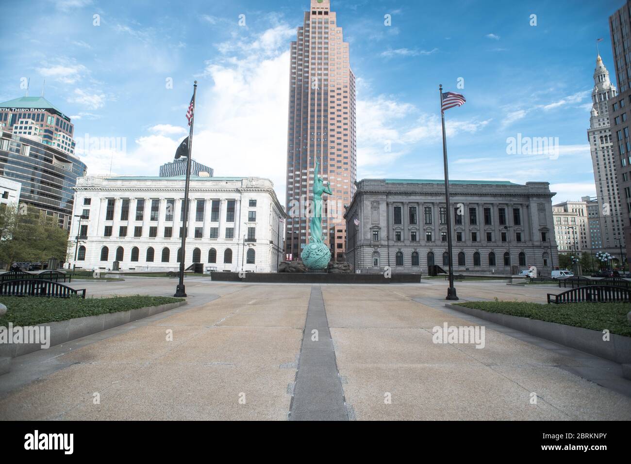
[[[7,313],[0,317],[0,327],[36,325],[77,317],[136,310],[146,306],[176,303],[184,298],[170,296],[119,296],[116,298],[45,298],[42,296],[0,296]]]

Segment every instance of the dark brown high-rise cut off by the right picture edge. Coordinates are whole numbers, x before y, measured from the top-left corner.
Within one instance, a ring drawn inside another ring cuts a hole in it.
[[[631,2],[627,3],[616,13],[609,17],[609,30],[611,33],[611,51],[613,52],[613,64],[616,71],[616,83],[620,95],[614,100],[608,101],[609,117],[611,120],[611,156],[617,173],[620,194],[620,223],[617,228],[622,229],[622,249],[625,243],[631,245],[631,141],[629,140],[629,120],[631,119]],[[620,241],[617,242],[620,245]],[[613,253],[612,253],[613,254]],[[628,253],[627,253],[628,256]],[[628,269],[628,268],[627,268]]]

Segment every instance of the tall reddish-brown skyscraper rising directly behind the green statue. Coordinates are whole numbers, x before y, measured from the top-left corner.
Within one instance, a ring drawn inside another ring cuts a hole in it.
[[[308,241],[317,156],[321,177],[333,191],[322,214],[324,240],[332,259],[343,261],[344,206],[355,193],[357,176],[355,74],[329,0],[311,0],[291,45],[290,76],[285,252],[295,259]]]

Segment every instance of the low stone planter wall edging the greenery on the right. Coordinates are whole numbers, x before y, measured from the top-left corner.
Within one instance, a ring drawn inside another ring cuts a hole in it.
[[[561,345],[604,357],[619,364],[631,363],[631,337],[610,333],[610,340],[603,341],[603,332],[589,328],[572,327],[571,325],[511,316],[501,313],[490,313],[476,308],[466,308],[457,304],[445,303],[447,308],[461,311],[471,316],[495,322],[505,327],[529,333],[541,339],[550,340]],[[603,327],[605,328],[605,327]]]

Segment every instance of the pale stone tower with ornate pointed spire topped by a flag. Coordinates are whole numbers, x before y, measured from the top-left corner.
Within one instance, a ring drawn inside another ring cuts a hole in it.
[[[618,255],[616,240],[622,238],[622,210],[620,208],[620,190],[616,172],[616,156],[611,140],[611,122],[608,105],[616,99],[617,91],[609,79],[609,71],[604,66],[600,55],[596,58],[594,69],[594,89],[592,90],[592,109],[589,117],[587,140],[591,151],[598,199],[599,240],[591,243],[591,248]],[[594,217],[590,222],[593,225]],[[594,230],[594,235],[596,231]],[[590,237],[592,238],[592,237]],[[595,237],[594,237],[595,238]],[[624,245],[623,245],[624,247]]]

